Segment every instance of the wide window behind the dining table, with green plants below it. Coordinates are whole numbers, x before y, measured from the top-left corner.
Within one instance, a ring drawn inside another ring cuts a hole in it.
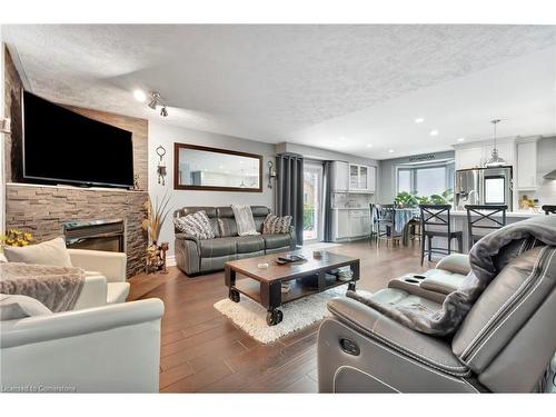
[[[397,192],[431,196],[454,188],[454,162],[418,167],[401,166],[397,171]]]

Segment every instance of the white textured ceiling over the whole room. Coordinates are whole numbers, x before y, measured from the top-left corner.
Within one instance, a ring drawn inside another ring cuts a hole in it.
[[[481,139],[489,132],[488,118],[505,113],[535,112],[529,118],[535,122],[524,117],[527,126],[516,121],[508,135],[556,132],[544,131],[554,127],[556,111],[556,27],[2,29],[33,92],[192,129],[376,158],[415,153],[416,147],[447,149],[460,136]],[[508,72],[506,83],[499,81],[500,71]],[[534,92],[527,91],[529,85]],[[135,88],[160,91],[170,117],[162,119],[137,102]],[[485,88],[490,90],[486,99],[480,96]],[[426,119],[421,131],[415,130],[415,117]],[[429,128],[440,130],[434,141],[424,135]],[[367,148],[370,142],[374,147]],[[395,155],[387,153],[390,147]]]

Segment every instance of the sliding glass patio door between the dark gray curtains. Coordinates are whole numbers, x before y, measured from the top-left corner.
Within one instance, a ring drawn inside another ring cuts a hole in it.
[[[322,235],[322,165],[304,165],[304,244],[319,241]]]

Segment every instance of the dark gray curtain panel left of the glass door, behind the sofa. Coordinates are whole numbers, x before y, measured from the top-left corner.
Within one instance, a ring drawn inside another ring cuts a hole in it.
[[[276,156],[276,211],[291,216],[297,245],[304,244],[304,157],[297,153]]]

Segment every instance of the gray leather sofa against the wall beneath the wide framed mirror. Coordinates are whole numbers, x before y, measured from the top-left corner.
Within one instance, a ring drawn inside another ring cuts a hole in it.
[[[288,234],[238,236],[238,228],[231,207],[183,207],[173,212],[182,217],[205,210],[215,239],[199,240],[179,230],[176,232],[176,264],[188,276],[224,269],[228,260],[242,259],[266,254],[292,250],[296,248],[296,235],[291,227]],[[251,206],[257,231],[262,234],[262,222],[270,212],[268,207]],[[219,220],[225,234],[220,232]]]

